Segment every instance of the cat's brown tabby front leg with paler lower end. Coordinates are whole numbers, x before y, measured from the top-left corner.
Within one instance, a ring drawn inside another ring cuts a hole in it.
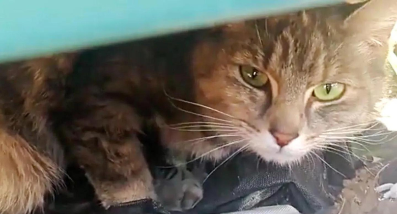
[[[136,137],[137,114],[123,103],[86,101],[76,109],[84,113],[72,114],[61,131],[98,199],[105,208],[154,199],[152,176]]]

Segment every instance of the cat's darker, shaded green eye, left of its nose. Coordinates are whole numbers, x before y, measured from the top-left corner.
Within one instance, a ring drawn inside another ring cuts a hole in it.
[[[243,80],[253,87],[262,87],[269,81],[266,74],[259,72],[252,66],[240,66],[240,74]]]

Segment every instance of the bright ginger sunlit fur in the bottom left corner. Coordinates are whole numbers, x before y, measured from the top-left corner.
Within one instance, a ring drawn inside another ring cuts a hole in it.
[[[44,205],[61,171],[34,150],[24,139],[0,131],[0,210],[2,213],[30,213]]]

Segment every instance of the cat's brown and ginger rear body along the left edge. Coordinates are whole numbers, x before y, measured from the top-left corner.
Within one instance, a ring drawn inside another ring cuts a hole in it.
[[[48,114],[75,54],[0,65],[0,213],[28,213],[62,178],[64,154]]]

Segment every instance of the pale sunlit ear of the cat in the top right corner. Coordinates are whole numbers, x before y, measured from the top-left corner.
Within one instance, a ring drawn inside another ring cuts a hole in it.
[[[384,50],[397,22],[397,0],[371,0],[345,19],[349,42],[362,52]],[[383,47],[383,48],[382,48]]]

